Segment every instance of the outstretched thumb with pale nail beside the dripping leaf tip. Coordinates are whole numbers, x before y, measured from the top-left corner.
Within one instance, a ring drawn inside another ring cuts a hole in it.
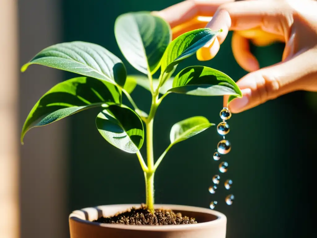
[[[305,86],[303,78],[316,71],[307,63],[311,55],[304,52],[288,61],[259,69],[241,78],[237,85],[243,97],[230,102],[230,111],[239,113],[283,94],[305,89],[307,85]],[[223,104],[227,106],[227,102],[228,96],[225,96]]]

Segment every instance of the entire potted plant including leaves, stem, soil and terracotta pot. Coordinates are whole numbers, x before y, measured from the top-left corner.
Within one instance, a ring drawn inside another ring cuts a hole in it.
[[[99,45],[86,42],[50,46],[23,65],[22,72],[31,64],[40,64],[81,76],[58,83],[40,98],[23,125],[22,143],[26,132],[33,127],[98,107],[100,113],[96,116],[96,126],[101,136],[124,152],[135,153],[144,171],[146,205],[139,205],[140,208],[136,204],[107,205],[74,211],[69,217],[71,238],[225,237],[226,217],[219,212],[206,208],[154,205],[154,174],[165,154],[174,144],[214,124],[203,116],[177,122],[171,128],[171,144],[157,160],[153,156],[152,136],[156,110],[170,93],[230,95],[228,103],[242,96],[229,76],[209,67],[187,67],[171,77],[178,63],[212,43],[220,31],[193,30],[171,41],[170,26],[162,18],[148,12],[127,13],[117,18],[115,37],[127,61],[146,76],[127,76],[126,68],[117,56]],[[154,79],[152,75],[159,68],[160,76]],[[130,96],[136,85],[151,92],[149,113],[140,110]],[[123,96],[131,107],[122,104]],[[230,112],[224,109],[223,113]],[[139,151],[145,139],[146,162]]]

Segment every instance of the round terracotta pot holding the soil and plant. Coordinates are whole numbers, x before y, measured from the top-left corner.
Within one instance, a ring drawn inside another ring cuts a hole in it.
[[[195,217],[197,224],[189,225],[121,225],[92,222],[124,212],[139,204],[106,205],[83,208],[69,215],[71,238],[225,238],[227,218],[220,212],[206,208],[158,204],[155,208],[172,209],[182,215]]]

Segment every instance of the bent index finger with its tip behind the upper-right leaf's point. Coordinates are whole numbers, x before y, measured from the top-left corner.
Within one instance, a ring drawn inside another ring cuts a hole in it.
[[[226,3],[218,8],[207,27],[215,31],[223,29],[217,36],[219,44],[223,43],[229,30],[260,28],[263,31],[286,37],[292,19],[289,17],[289,7],[283,4],[285,4],[283,1],[270,0]],[[284,9],[284,12],[281,9]],[[204,60],[212,59],[219,50],[217,45],[209,45],[204,48],[209,49],[209,52],[207,49],[200,49],[205,52]]]

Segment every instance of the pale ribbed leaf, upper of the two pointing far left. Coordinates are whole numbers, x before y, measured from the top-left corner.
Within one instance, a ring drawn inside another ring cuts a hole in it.
[[[31,64],[62,69],[120,86],[126,81],[126,68],[122,61],[93,43],[74,41],[49,46],[24,64],[21,71],[24,72]]]

